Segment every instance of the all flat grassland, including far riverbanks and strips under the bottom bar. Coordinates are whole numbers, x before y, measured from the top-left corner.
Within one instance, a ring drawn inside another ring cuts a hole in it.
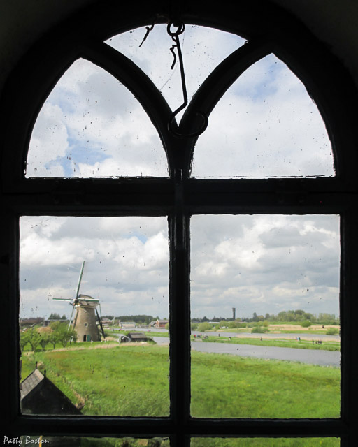
[[[302,328],[301,328],[302,329]],[[250,344],[338,351],[335,337],[316,343],[295,335],[244,334],[242,331],[192,335],[193,346]],[[168,337],[166,331],[151,337]],[[317,336],[317,333],[315,334]],[[275,338],[277,337],[277,338]],[[285,338],[281,338],[285,337]],[[52,346],[53,348],[53,346]],[[337,354],[338,354],[337,352]],[[322,352],[324,353],[324,352]],[[332,353],[333,352],[327,352]],[[24,349],[22,379],[34,369],[46,376],[88,416],[169,416],[169,348],[167,344],[76,343],[50,349]],[[192,402],[195,418],[338,418],[341,370],[335,366],[250,358],[192,350]],[[155,444],[157,442],[157,444]],[[125,444],[127,443],[127,444]],[[145,444],[147,443],[147,444]],[[159,444],[158,444],[159,443]],[[86,439],[84,446],[169,447],[169,440]],[[192,447],[338,446],[338,439],[210,439],[193,438]]]

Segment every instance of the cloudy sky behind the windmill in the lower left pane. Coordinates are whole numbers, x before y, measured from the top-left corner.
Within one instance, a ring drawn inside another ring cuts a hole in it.
[[[80,293],[103,315],[168,316],[169,246],[165,217],[22,217],[21,313],[69,314]]]

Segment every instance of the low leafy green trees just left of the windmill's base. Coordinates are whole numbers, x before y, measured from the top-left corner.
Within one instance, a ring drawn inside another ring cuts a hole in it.
[[[29,328],[21,332],[20,347],[24,351],[25,348],[36,351],[38,346],[45,350],[48,344],[56,348],[57,344],[66,347],[70,342],[76,342],[77,332],[73,328],[69,328],[67,323],[55,321],[48,328]]]

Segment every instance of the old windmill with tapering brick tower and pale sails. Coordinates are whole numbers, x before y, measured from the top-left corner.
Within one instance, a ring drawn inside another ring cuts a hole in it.
[[[84,268],[85,261],[83,261],[80,270],[80,277],[78,278],[75,298],[52,298],[52,300],[70,302],[72,312],[69,321],[69,328],[71,327],[72,323],[73,329],[76,330],[78,335],[78,342],[99,342],[101,340],[101,335],[96,325],[96,320],[99,322],[99,327],[101,328],[103,338],[106,338],[106,335],[104,335],[101,318],[99,317],[97,310],[97,306],[101,309],[101,305],[99,304],[99,300],[96,300],[89,295],[80,294],[80,285]],[[73,318],[72,322],[72,317],[75,310],[75,318]]]

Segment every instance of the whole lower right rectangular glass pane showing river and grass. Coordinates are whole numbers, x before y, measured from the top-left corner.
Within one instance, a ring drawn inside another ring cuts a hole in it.
[[[338,418],[339,217],[193,216],[194,417]]]

